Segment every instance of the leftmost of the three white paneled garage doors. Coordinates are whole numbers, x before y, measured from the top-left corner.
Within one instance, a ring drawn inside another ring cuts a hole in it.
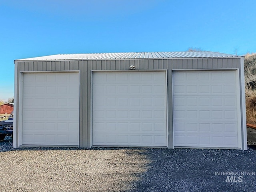
[[[79,73],[23,74],[22,144],[75,145]]]

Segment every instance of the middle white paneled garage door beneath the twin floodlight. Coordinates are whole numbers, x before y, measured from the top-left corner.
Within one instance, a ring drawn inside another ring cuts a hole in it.
[[[167,146],[166,72],[94,72],[92,144]]]

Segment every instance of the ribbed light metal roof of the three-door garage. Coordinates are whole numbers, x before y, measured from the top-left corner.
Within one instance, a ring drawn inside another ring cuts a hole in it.
[[[128,52],[128,53],[88,53],[88,54],[58,54],[42,57],[18,59],[15,61],[30,60],[99,60],[99,59],[155,59],[155,58],[209,58],[209,57],[240,57],[210,51],[192,52]]]

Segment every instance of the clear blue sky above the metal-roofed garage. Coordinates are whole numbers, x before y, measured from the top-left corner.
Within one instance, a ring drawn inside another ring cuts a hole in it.
[[[52,54],[256,52],[256,0],[0,0],[0,99],[14,60]]]

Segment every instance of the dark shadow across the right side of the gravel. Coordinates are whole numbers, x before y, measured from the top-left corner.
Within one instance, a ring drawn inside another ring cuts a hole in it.
[[[237,181],[238,176],[235,182],[226,182],[226,175],[216,175],[216,172],[226,171],[255,173],[256,150],[251,148],[248,151],[147,149],[143,153],[151,163],[133,184],[132,192],[256,191],[255,175],[242,176],[242,182]]]

